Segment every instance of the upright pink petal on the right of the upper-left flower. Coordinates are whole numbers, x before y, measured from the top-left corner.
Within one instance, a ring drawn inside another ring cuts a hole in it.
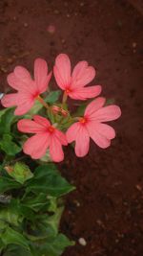
[[[45,92],[51,80],[51,73],[48,76],[47,62],[42,58],[36,58],[34,61],[34,79],[39,92]]]

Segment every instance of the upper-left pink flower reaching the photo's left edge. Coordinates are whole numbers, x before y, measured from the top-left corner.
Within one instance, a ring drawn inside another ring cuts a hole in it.
[[[17,106],[15,115],[23,115],[31,109],[36,98],[48,88],[51,73],[48,75],[47,62],[42,58],[34,61],[34,80],[30,72],[22,67],[16,66],[8,76],[8,83],[17,93],[11,93],[3,97],[2,105],[5,107]]]

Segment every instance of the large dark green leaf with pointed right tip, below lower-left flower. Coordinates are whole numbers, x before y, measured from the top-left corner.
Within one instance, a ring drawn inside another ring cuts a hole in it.
[[[68,194],[74,187],[57,172],[53,164],[39,166],[34,172],[34,177],[27,185],[27,192],[35,194],[47,193],[52,197],[61,197]]]

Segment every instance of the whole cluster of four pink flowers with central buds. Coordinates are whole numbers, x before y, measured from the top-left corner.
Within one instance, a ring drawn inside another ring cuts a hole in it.
[[[55,59],[53,74],[58,86],[64,91],[61,105],[49,105],[41,97],[42,93],[49,91],[51,81],[51,72],[48,72],[44,59],[35,59],[33,79],[22,66],[16,66],[8,76],[8,83],[17,92],[5,95],[1,102],[5,107],[16,106],[15,115],[25,115],[37,101],[51,114],[61,115],[56,122],[50,116],[49,120],[46,115],[38,114],[33,115],[32,120],[25,117],[19,120],[17,128],[20,131],[34,134],[24,143],[23,151],[33,159],[40,159],[49,150],[52,161],[59,162],[64,159],[62,146],[67,146],[68,143],[75,142],[75,154],[79,157],[88,153],[90,138],[100,148],[108,148],[115,131],[104,122],[117,119],[121,110],[117,105],[105,105],[106,99],[97,97],[101,92],[101,85],[86,86],[95,77],[94,68],[87,61],[80,61],[72,71],[70,58],[60,54]],[[67,106],[65,107],[68,97],[81,101],[97,98],[87,105],[83,116],[72,117]],[[71,117],[70,122],[67,116]],[[61,119],[68,120],[66,128],[62,127]]]

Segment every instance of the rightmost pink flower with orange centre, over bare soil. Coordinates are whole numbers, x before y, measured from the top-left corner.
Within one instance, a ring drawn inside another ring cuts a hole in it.
[[[75,141],[75,153],[79,157],[88,153],[90,137],[102,149],[108,148],[115,137],[114,129],[102,122],[117,119],[121,110],[117,105],[103,107],[105,101],[105,98],[101,97],[92,101],[87,106],[84,117],[79,118],[79,122],[74,123],[67,131],[68,142]]]

